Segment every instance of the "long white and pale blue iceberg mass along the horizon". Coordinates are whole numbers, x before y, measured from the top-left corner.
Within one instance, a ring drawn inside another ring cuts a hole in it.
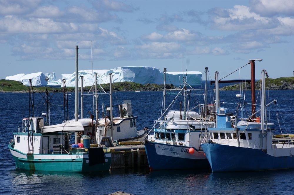
[[[112,73],[113,82],[135,82],[140,84],[154,83],[163,84],[163,72],[154,67],[118,67],[110,70],[80,70],[78,71],[79,80],[83,76],[83,86],[92,86],[94,83],[94,75],[97,73],[97,83],[109,83],[109,74]],[[29,85],[29,79],[32,79],[33,86],[46,86],[45,77],[48,77],[48,85],[63,86],[62,80],[65,79],[66,87],[74,87],[76,72],[72,74],[61,74],[61,79],[56,79],[55,73],[42,72],[31,74],[16,74],[8,76],[6,80],[16,80],[24,85]],[[187,78],[189,85],[198,85],[202,81],[202,73],[198,71],[189,72],[167,72],[166,84],[180,85],[183,83],[183,76]],[[80,86],[80,82],[79,82]]]

